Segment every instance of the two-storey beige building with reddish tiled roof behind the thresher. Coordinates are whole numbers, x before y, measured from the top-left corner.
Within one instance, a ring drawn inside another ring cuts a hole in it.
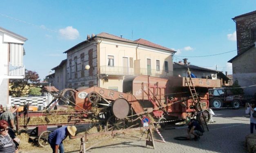
[[[145,39],[132,41],[100,33],[88,36],[87,40],[64,53],[67,53],[66,87],[69,88],[99,86],[122,92],[126,76],[173,75],[172,55],[175,51]],[[89,70],[85,69],[87,65]]]

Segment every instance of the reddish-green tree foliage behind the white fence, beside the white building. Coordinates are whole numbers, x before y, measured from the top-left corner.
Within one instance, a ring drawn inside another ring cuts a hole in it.
[[[24,79],[10,79],[9,95],[21,97],[28,94],[30,87],[39,85],[39,75],[35,71],[25,70]]]

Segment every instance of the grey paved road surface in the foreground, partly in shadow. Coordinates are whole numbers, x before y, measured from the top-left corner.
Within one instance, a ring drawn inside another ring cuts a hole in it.
[[[145,140],[118,136],[99,144],[87,152],[90,153],[246,153],[244,146],[245,136],[249,133],[249,116],[244,114],[245,109],[225,109],[214,111],[214,123],[208,125],[209,130],[199,141],[174,140],[176,136],[186,136],[187,127],[168,127],[161,131],[166,143],[156,142],[156,149],[145,147]],[[160,140],[157,133],[154,138]],[[79,148],[78,148],[79,149]],[[72,153],[78,152],[72,151]],[[22,153],[26,153],[22,151]],[[35,152],[36,153],[36,152]],[[69,152],[71,153],[71,152]]]

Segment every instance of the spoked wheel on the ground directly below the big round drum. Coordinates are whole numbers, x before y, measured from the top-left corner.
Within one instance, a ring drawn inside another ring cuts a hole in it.
[[[125,120],[110,116],[107,119],[107,131],[120,130],[125,128]]]

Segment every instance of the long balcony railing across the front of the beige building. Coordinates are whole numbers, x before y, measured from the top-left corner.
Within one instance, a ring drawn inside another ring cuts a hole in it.
[[[172,76],[173,71],[147,68],[129,68],[123,66],[100,66],[99,73],[106,75],[150,75],[154,77],[165,77]]]

